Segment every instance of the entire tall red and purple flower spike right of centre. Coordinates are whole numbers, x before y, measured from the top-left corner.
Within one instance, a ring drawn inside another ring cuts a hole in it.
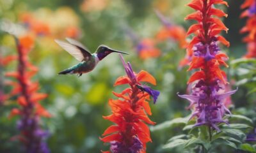
[[[193,0],[188,4],[196,10],[186,17],[186,20],[196,20],[187,34],[195,34],[188,44],[189,54],[193,54],[189,70],[199,69],[189,78],[188,84],[193,84],[190,95],[179,95],[190,101],[189,108],[193,110],[191,118],[197,117],[195,126],[206,125],[220,131],[218,124],[225,113],[230,113],[223,101],[236,91],[225,91],[228,84],[225,72],[220,66],[227,66],[227,55],[220,52],[218,42],[229,46],[229,43],[219,34],[227,31],[227,27],[216,17],[227,17],[223,11],[214,8],[214,4],[225,4],[222,0]],[[213,17],[216,16],[216,17]],[[223,93],[224,92],[224,93]]]

